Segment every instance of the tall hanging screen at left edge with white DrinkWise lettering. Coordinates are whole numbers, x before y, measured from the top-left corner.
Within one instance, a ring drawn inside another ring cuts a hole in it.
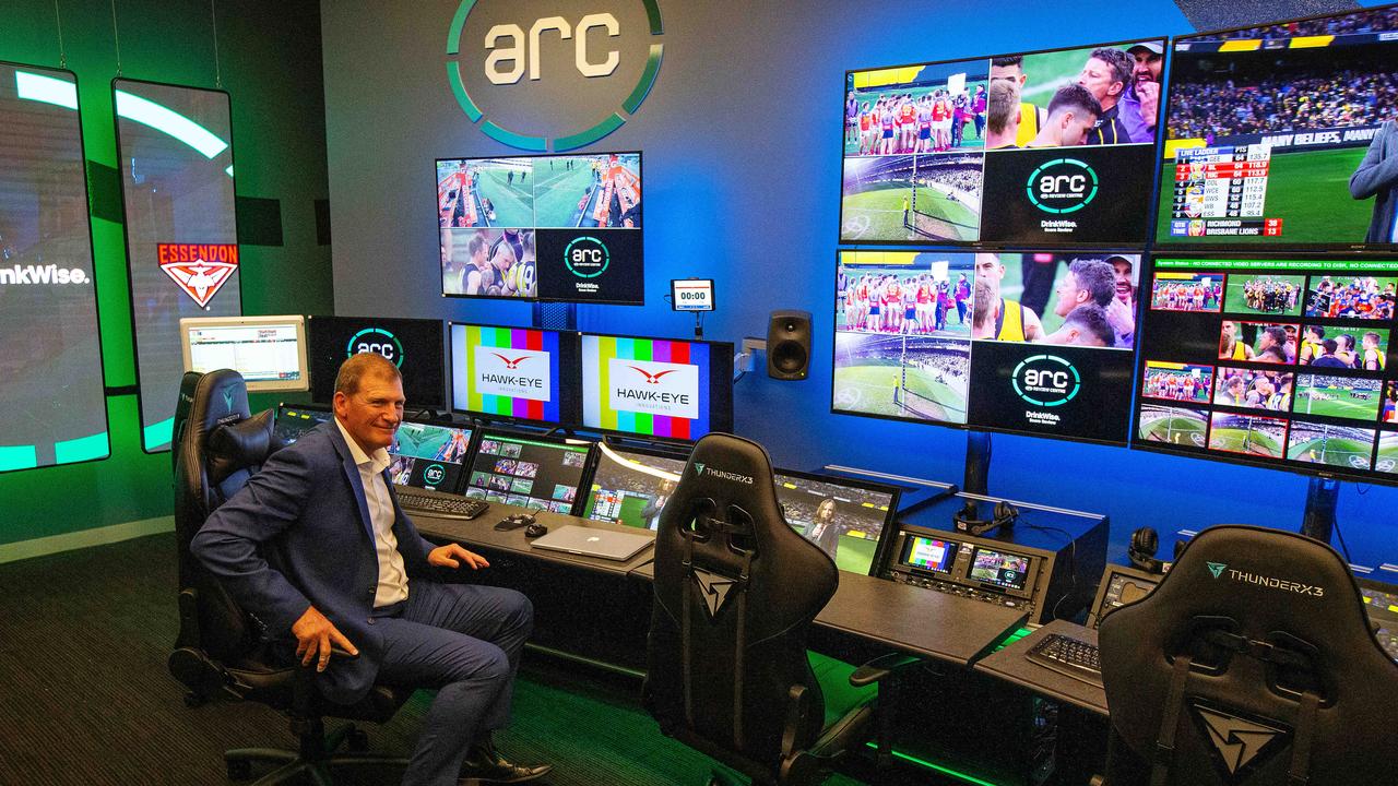
[[[105,459],[77,78],[0,63],[0,471]]]

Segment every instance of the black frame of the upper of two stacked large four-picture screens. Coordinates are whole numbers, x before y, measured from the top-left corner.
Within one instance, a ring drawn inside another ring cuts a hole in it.
[[[967,62],[976,62],[976,60],[984,60],[984,62],[990,63],[995,57],[1012,57],[1012,56],[1029,57],[1032,55],[1053,55],[1055,52],[1071,52],[1071,50],[1075,50],[1075,49],[1099,49],[1099,48],[1103,48],[1103,46],[1124,46],[1124,45],[1128,45],[1128,43],[1145,43],[1145,42],[1151,42],[1151,41],[1159,41],[1162,49],[1165,49],[1165,52],[1160,53],[1160,56],[1165,59],[1165,64],[1162,66],[1162,71],[1160,71],[1160,81],[1162,81],[1162,85],[1166,85],[1169,83],[1170,56],[1174,52],[1174,48],[1172,46],[1172,38],[1169,35],[1151,35],[1151,36],[1142,36],[1142,38],[1130,38],[1130,39],[1125,39],[1125,41],[1106,41],[1106,42],[1082,43],[1082,45],[1074,45],[1074,46],[1054,46],[1054,48],[1050,48],[1050,49],[1033,49],[1033,50],[1026,50],[1026,52],[998,52],[998,53],[993,53],[993,55],[974,56],[974,57],[948,57],[948,59],[942,59],[942,60],[918,60],[918,62],[913,62],[913,63],[900,63],[900,64],[892,64],[892,66],[871,66],[871,67],[865,67],[865,69],[846,69],[844,70],[843,81],[840,83],[840,95],[843,97],[847,92],[847,88],[849,88],[849,84],[850,84],[850,74],[861,73],[861,71],[884,71],[884,70],[893,70],[893,69],[907,69],[907,67],[911,67],[911,66],[945,66],[948,63],[967,63]],[[987,66],[987,73],[988,73],[988,66]],[[1160,151],[1162,151],[1162,145],[1165,144],[1165,137],[1163,137],[1163,133],[1165,133],[1165,117],[1166,117],[1165,109],[1166,109],[1165,102],[1162,102],[1160,106],[1156,108],[1158,116],[1156,116],[1156,126],[1155,126],[1155,141],[1152,143],[1153,147],[1156,148],[1155,165],[1152,166],[1152,175],[1151,175],[1152,176],[1152,190],[1155,190],[1155,192],[1159,192],[1159,189],[1160,189],[1160,172],[1163,171],[1162,166],[1160,166],[1160,155],[1162,155]],[[839,129],[844,129],[844,115],[843,115],[843,112],[844,112],[844,103],[842,101],[842,103],[840,103],[840,119],[839,119],[839,124],[836,126]],[[1145,143],[1131,143],[1131,144],[1145,145]],[[839,158],[840,166],[839,166],[839,172],[836,173],[836,189],[837,189],[837,193],[840,196],[840,200],[839,200],[840,208],[839,208],[839,217],[837,217],[839,222],[836,224],[836,231],[835,231],[835,245],[836,245],[836,248],[839,248],[839,246],[854,246],[857,249],[895,248],[895,249],[900,249],[900,250],[917,249],[917,248],[928,248],[928,246],[931,246],[931,248],[962,249],[962,250],[1012,250],[1012,249],[1023,248],[1023,242],[1019,242],[1019,241],[952,241],[952,239],[948,239],[948,238],[937,238],[937,239],[924,238],[921,241],[886,241],[885,239],[885,241],[860,242],[860,241],[847,241],[847,239],[844,239],[843,238],[843,234],[844,234],[844,159],[849,158],[849,157],[844,155],[843,150],[844,150],[844,141],[842,138],[842,141],[840,141],[840,158]],[[983,151],[983,152],[988,154],[991,151]],[[984,182],[986,182],[984,172],[986,172],[986,168],[984,168],[984,164],[983,164],[981,165],[981,186],[983,186],[983,193],[984,193]],[[1158,204],[1152,201],[1148,206],[1148,208],[1149,210],[1156,210]],[[984,218],[983,218],[983,222],[984,222]],[[977,231],[979,231],[979,228],[977,228]],[[1152,235],[1153,235],[1153,227],[1148,221],[1146,225],[1145,225],[1145,231],[1144,231],[1142,236],[1139,238],[1139,242],[1135,243],[1135,245],[1132,245],[1131,241],[1125,241],[1125,242],[1123,242],[1123,241],[1111,241],[1111,242],[1069,242],[1069,241],[1064,241],[1064,242],[1058,242],[1058,243],[1051,242],[1051,241],[1044,241],[1044,242],[1036,242],[1035,248],[1039,249],[1039,250],[1090,250],[1090,252],[1118,250],[1121,248],[1142,248],[1144,249],[1151,242]]]

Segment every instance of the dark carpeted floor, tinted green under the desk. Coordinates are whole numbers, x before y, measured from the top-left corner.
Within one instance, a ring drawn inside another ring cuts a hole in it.
[[[175,585],[172,534],[0,565],[0,783],[226,783],[224,750],[292,745],[285,719],[261,705],[185,706],[165,669]],[[555,764],[548,786],[705,783],[710,759],[663,737],[637,692],[531,653],[498,743]],[[418,692],[391,723],[369,726],[370,748],[408,755],[429,701]],[[396,776],[359,783],[370,782]]]

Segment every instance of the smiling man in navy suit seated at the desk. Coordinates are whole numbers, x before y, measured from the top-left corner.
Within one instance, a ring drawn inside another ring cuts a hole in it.
[[[438,688],[404,786],[533,780],[551,768],[509,762],[489,738],[509,722],[533,606],[514,590],[425,579],[432,565],[488,562],[456,543],[433,547],[398,508],[384,470],[403,406],[391,362],[347,359],[336,417],[273,455],[192,551],[288,652],[295,638],[326,698],[352,703],[376,681]],[[331,648],[358,657],[331,659]]]

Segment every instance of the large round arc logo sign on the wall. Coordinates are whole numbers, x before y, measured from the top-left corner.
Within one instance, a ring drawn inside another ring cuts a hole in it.
[[[657,0],[521,6],[461,0],[447,31],[447,83],[481,133],[519,150],[566,151],[636,115],[664,52]]]

